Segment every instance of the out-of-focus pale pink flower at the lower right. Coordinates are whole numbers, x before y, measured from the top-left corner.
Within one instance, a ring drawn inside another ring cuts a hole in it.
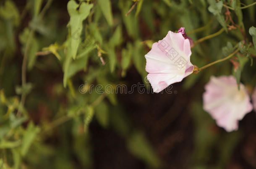
[[[203,94],[204,110],[218,126],[230,132],[238,129],[238,121],[252,111],[249,95],[240,84],[240,90],[233,76],[212,76]]]

